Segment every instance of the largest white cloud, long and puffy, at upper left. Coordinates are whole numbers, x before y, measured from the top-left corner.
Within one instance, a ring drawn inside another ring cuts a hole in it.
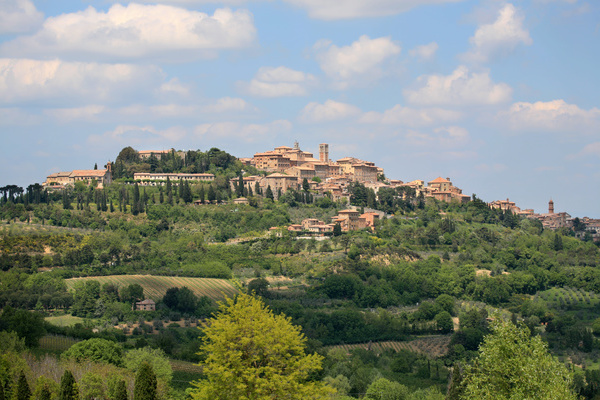
[[[245,10],[217,9],[209,16],[166,5],[113,5],[107,12],[85,11],[48,18],[41,30],[2,45],[12,56],[173,59],[212,55],[215,50],[247,47],[256,28]]]

